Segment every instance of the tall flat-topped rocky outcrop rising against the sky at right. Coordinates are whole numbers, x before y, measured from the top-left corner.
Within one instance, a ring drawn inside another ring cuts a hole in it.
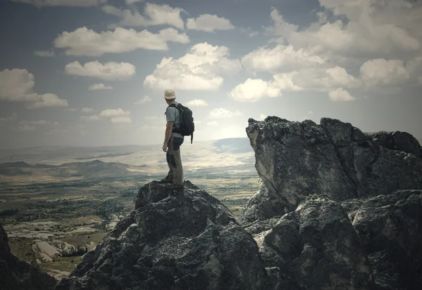
[[[422,189],[422,149],[409,133],[363,133],[336,119],[249,119],[246,128],[262,180],[241,223],[294,211],[308,195],[336,202]]]

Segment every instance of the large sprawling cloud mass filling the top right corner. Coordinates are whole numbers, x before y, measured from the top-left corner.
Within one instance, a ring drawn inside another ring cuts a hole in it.
[[[318,55],[373,58],[374,56],[419,53],[421,50],[421,3],[405,0],[320,0],[326,13],[306,29],[298,29],[275,8],[274,25],[267,32],[277,41],[305,48]],[[328,17],[329,13],[333,17]],[[417,14],[419,13],[419,14]],[[346,19],[345,19],[346,18]]]

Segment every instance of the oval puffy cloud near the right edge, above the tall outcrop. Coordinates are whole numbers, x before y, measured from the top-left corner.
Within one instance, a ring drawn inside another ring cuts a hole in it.
[[[402,60],[368,60],[360,67],[360,75],[367,86],[392,86],[410,78]]]

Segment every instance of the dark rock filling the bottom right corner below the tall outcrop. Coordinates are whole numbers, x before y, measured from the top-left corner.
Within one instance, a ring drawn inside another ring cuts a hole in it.
[[[422,289],[422,190],[341,204],[369,257],[378,289]]]

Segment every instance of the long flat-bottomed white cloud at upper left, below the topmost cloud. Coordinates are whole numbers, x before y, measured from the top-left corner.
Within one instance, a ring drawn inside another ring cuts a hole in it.
[[[126,53],[139,48],[153,51],[167,51],[167,41],[188,44],[189,37],[174,28],[161,29],[153,34],[144,29],[117,27],[114,31],[94,32],[93,29],[80,27],[74,32],[63,32],[54,41],[56,48],[65,48],[66,55],[101,56],[104,53]]]

